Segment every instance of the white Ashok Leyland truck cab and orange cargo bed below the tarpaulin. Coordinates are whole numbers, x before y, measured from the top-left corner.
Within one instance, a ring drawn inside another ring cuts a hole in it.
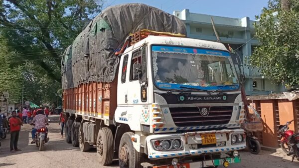
[[[143,30],[116,53],[113,81],[64,88],[68,143],[83,152],[97,148],[101,165],[118,159],[121,168],[240,162],[244,104],[224,44]]]

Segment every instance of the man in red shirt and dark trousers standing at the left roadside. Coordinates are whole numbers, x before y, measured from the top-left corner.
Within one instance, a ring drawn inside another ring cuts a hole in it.
[[[22,121],[21,119],[16,117],[16,112],[13,111],[11,113],[12,117],[9,119],[9,125],[10,125],[10,152],[16,152],[21,151],[20,149],[17,149],[17,141],[19,132],[21,130]]]

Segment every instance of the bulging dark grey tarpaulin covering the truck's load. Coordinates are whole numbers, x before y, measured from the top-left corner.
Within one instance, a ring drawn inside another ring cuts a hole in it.
[[[130,33],[142,29],[186,34],[185,24],[179,18],[155,7],[142,3],[108,7],[65,50],[61,61],[62,88],[88,81],[113,81],[119,63],[114,52]]]

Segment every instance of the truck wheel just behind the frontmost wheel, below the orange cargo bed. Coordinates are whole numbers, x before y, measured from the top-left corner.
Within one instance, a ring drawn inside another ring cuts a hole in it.
[[[97,138],[97,155],[101,165],[109,165],[113,160],[113,135],[109,128],[102,128]]]

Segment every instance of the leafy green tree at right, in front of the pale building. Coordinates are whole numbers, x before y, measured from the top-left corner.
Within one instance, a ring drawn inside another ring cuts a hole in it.
[[[260,46],[250,58],[250,65],[261,69],[267,78],[299,85],[299,1],[270,0],[257,16],[256,36]]]

